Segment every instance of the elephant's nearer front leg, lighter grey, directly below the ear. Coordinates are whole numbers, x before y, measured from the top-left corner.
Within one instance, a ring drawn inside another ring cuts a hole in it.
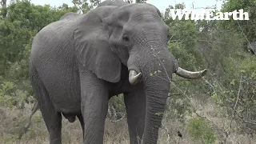
[[[101,144],[108,108],[106,82],[90,72],[84,73],[81,75],[81,94],[84,144]]]

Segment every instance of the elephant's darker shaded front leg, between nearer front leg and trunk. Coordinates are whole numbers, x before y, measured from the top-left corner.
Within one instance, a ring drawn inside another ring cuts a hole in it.
[[[141,143],[145,126],[146,94],[143,89],[125,93],[130,144]]]

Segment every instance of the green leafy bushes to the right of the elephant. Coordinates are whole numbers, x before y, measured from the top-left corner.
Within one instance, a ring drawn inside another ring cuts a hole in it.
[[[184,9],[184,4],[169,6],[162,14],[166,25],[170,26],[169,49],[179,66],[187,70],[202,70],[205,67],[208,70],[206,77],[196,82],[174,77],[167,118],[186,122],[185,116],[193,114],[194,109],[190,98],[201,101],[212,98],[223,114],[239,123],[239,130],[255,133],[256,60],[244,49],[245,44],[254,42],[255,38],[254,3],[228,0],[222,6],[222,11],[245,8],[244,11],[250,13],[250,21],[194,22],[170,18],[170,9]],[[248,25],[248,22],[252,23]],[[191,127],[190,130],[195,128]]]

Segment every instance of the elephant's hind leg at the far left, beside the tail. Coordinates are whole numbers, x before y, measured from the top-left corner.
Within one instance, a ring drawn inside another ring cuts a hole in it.
[[[50,144],[62,144],[62,114],[55,110],[45,86],[43,86],[36,73],[31,75],[31,83],[38,100],[42,118],[50,134]]]

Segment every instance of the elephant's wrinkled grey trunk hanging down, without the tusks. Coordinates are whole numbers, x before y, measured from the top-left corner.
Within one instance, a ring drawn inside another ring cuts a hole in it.
[[[146,93],[146,118],[142,143],[146,144],[158,141],[158,130],[162,124],[166,100],[170,93],[170,79],[175,71],[174,58],[167,49],[155,50],[154,53],[148,58],[149,61],[142,60],[141,62],[145,63],[140,65]]]

